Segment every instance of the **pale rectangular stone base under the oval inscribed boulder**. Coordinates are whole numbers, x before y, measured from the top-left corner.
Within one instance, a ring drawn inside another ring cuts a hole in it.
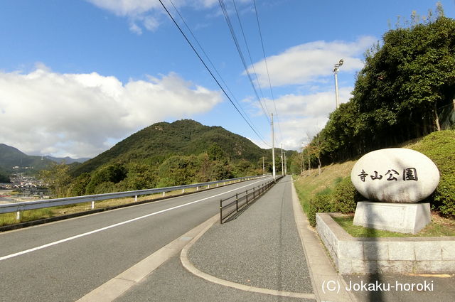
[[[429,203],[373,203],[360,201],[354,225],[416,234],[432,222]]]

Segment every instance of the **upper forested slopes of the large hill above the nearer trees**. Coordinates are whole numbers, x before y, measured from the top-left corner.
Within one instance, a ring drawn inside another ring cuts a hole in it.
[[[213,143],[218,144],[232,161],[245,159],[257,163],[259,158],[270,153],[223,127],[204,126],[190,119],[182,119],[173,123],[156,123],[132,134],[111,149],[82,163],[75,168],[73,176],[94,171],[108,163],[144,160],[160,163],[170,155],[199,154],[207,151]]]

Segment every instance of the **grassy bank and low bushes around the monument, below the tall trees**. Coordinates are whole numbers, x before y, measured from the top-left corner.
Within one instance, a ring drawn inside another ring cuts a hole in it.
[[[439,185],[424,200],[432,205],[432,224],[417,236],[455,236],[455,131],[437,131],[417,142],[400,146],[419,151],[434,161],[441,175]],[[297,194],[312,226],[316,226],[316,212],[353,214],[358,201],[365,200],[350,181],[350,170],[355,161],[333,163],[294,176]],[[368,237],[372,232],[352,225],[353,217],[337,219],[353,236]],[[387,232],[389,234],[391,232]],[[385,235],[378,232],[377,236]],[[395,234],[393,236],[400,236]]]

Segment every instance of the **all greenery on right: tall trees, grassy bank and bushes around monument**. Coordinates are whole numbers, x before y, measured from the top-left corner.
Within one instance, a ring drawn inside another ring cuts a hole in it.
[[[365,199],[350,182],[355,159],[402,147],[436,163],[439,185],[424,201],[432,205],[432,224],[455,235],[447,222],[455,220],[454,65],[455,20],[444,16],[440,4],[428,16],[412,14],[405,27],[397,23],[365,53],[353,97],[331,113],[326,126],[291,161],[311,225],[316,225],[316,212],[351,214]]]

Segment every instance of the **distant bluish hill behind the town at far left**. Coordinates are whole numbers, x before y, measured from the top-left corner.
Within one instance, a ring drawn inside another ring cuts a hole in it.
[[[47,158],[29,156],[14,147],[0,144],[0,167],[7,173],[14,171],[40,171],[48,168],[52,163],[53,161]]]

